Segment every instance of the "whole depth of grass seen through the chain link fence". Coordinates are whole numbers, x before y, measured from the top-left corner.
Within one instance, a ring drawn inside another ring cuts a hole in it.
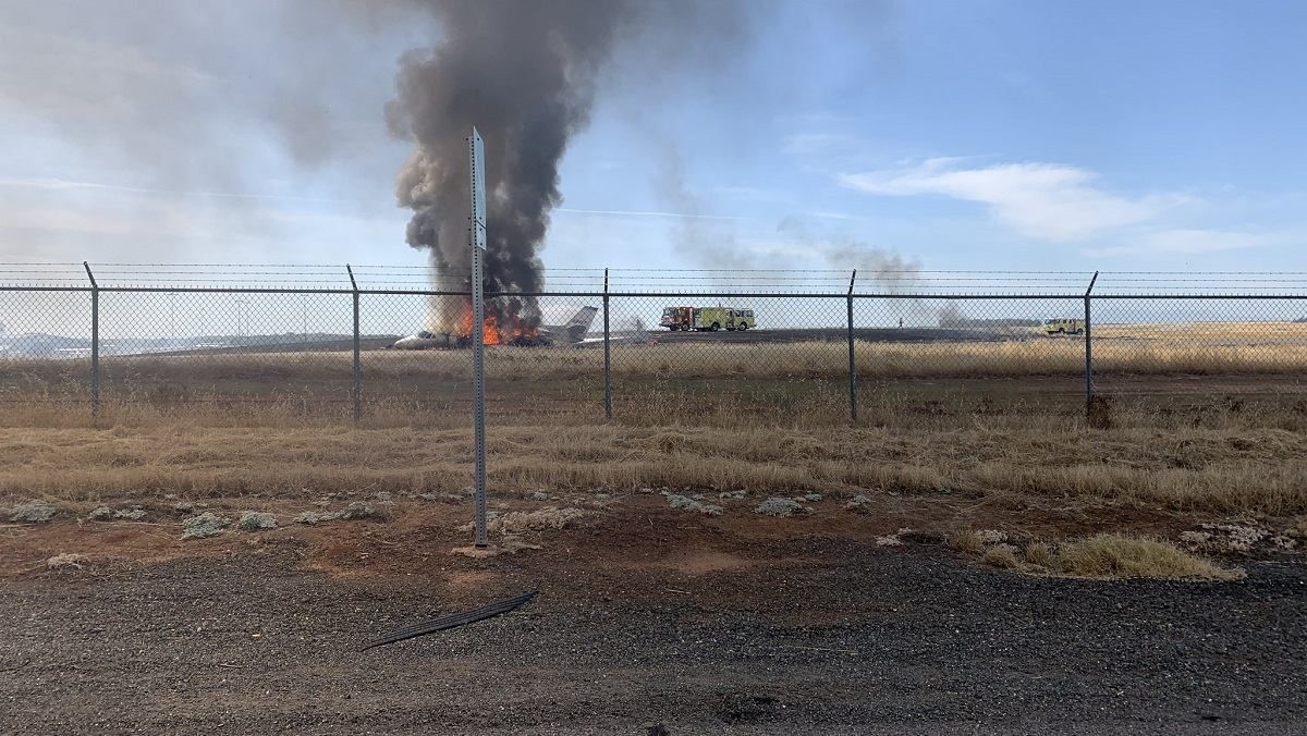
[[[1072,339],[864,341],[857,345],[860,421],[907,430],[1084,426],[1082,350]],[[1212,429],[1307,429],[1300,380],[1307,341],[1214,346],[1103,339],[1097,356],[1100,386],[1128,400],[1095,405],[1094,427],[1174,424],[1179,412],[1185,424]],[[467,426],[468,361],[460,350],[365,353],[363,426]],[[620,345],[613,353],[616,416],[644,426],[839,425],[847,421],[846,366],[839,341]],[[7,369],[0,425],[86,424],[89,366],[31,361]],[[112,356],[103,371],[102,426],[328,427],[352,420],[350,354],[344,352]],[[603,416],[601,371],[601,350],[491,349],[491,421],[593,424]],[[1195,375],[1204,378],[1178,378]],[[1176,407],[1176,395],[1188,405]]]

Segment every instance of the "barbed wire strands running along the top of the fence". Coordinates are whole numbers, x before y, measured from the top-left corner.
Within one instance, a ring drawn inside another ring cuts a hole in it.
[[[4,288],[90,288],[97,284],[116,289],[127,285],[159,289],[180,288],[250,288],[295,289],[337,288],[349,290],[395,289],[454,292],[467,288],[471,269],[443,264],[315,264],[315,263],[94,263],[90,277],[82,263],[7,261],[0,263],[0,289]],[[353,272],[353,282],[350,281]],[[784,295],[787,292],[855,295],[884,292],[899,295],[903,290],[929,295],[1077,295],[1094,277],[1087,271],[1035,269],[918,269],[894,268],[859,271],[835,268],[544,268],[538,272],[538,292],[584,289],[599,292],[605,280],[609,293],[623,292],[706,293],[750,290]],[[852,284],[850,281],[852,280]],[[516,290],[516,289],[508,289]],[[1307,292],[1307,272],[1302,271],[1103,271],[1098,273],[1095,295],[1117,295],[1121,292],[1148,294],[1182,294],[1202,292],[1227,295],[1248,293],[1263,295],[1283,293],[1294,298]],[[1200,295],[1200,294],[1195,294]]]

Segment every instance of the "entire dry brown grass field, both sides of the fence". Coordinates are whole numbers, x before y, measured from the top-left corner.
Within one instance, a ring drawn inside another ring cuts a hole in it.
[[[870,494],[873,526],[886,532],[995,527],[1059,539],[1174,536],[1235,516],[1303,523],[1307,344],[1102,335],[1106,400],[1093,427],[1076,339],[861,343],[856,422],[842,343],[617,345],[612,421],[601,350],[491,349],[490,481],[511,498]],[[358,426],[349,353],[108,357],[94,427],[84,362],[10,363],[0,499],[294,505],[463,493],[468,361],[365,353]]]

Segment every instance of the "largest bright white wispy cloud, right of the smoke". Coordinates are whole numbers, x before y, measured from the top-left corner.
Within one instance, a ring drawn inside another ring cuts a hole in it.
[[[839,183],[882,196],[937,195],[989,207],[1013,230],[1046,241],[1078,241],[1155,218],[1184,201],[1175,195],[1127,197],[1094,186],[1097,175],[1059,163],[1001,163],[965,169],[931,158],[906,169],[843,174]]]

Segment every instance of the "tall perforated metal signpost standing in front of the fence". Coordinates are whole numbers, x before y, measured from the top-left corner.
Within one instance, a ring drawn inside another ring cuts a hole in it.
[[[485,204],[485,146],[481,133],[472,128],[468,136],[468,161],[471,163],[472,212],[468,216],[468,247],[472,250],[472,393],[473,393],[473,444],[476,447],[476,532],[473,544],[478,548],[490,545],[486,535],[486,386],[485,386],[485,275],[482,273],[486,250],[486,204]]]

